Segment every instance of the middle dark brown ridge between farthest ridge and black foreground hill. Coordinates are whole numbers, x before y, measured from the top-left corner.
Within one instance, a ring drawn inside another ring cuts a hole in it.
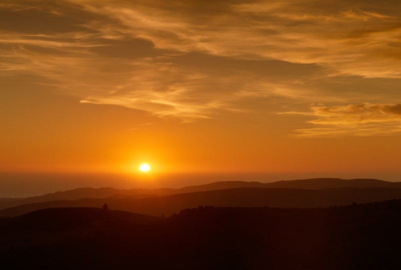
[[[384,201],[401,198],[400,188],[328,188],[319,190],[293,188],[232,188],[203,192],[175,194],[142,199],[97,198],[59,200],[31,203],[0,210],[0,216],[17,216],[34,210],[51,207],[99,207],[107,203],[110,209],[137,212],[149,215],[171,215],[184,208],[198,205],[219,207],[328,207],[358,203]]]

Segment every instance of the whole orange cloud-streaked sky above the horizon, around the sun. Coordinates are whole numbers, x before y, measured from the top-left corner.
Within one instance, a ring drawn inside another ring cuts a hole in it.
[[[0,172],[401,178],[399,0],[2,0]]]

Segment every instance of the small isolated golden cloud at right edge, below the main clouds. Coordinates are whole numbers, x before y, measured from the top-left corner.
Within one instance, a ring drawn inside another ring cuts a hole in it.
[[[401,132],[401,104],[312,106],[311,112],[288,112],[318,118],[319,127],[297,129],[295,136],[386,135]]]

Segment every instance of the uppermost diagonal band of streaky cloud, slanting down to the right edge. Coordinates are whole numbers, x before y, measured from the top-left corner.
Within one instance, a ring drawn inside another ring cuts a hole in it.
[[[356,8],[346,7],[342,1],[317,8],[313,2],[227,1],[214,11],[199,1],[165,10],[162,4],[150,6],[142,1],[112,7],[81,3],[91,12],[118,21],[114,36],[124,33],[149,39],[159,48],[319,63],[364,77],[401,76],[396,57],[401,33],[397,15],[369,11],[370,5],[356,1],[348,4]],[[198,12],[192,12],[191,6],[198,6]],[[210,12],[207,20],[205,12]],[[87,26],[98,29],[98,23]],[[105,34],[110,35],[110,29],[106,27]]]

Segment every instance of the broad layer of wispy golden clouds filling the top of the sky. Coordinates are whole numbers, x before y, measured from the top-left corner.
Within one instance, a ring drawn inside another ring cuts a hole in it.
[[[4,0],[0,8],[9,25],[0,32],[3,74],[33,72],[83,103],[181,121],[261,98],[366,102],[364,89],[340,95],[321,82],[401,77],[396,0]]]

